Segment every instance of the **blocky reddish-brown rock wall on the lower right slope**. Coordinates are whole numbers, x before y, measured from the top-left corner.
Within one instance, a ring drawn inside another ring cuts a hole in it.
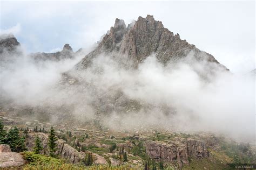
[[[156,160],[177,161],[182,166],[189,164],[188,157],[207,158],[208,151],[203,140],[186,139],[185,141],[145,141],[146,153]]]

